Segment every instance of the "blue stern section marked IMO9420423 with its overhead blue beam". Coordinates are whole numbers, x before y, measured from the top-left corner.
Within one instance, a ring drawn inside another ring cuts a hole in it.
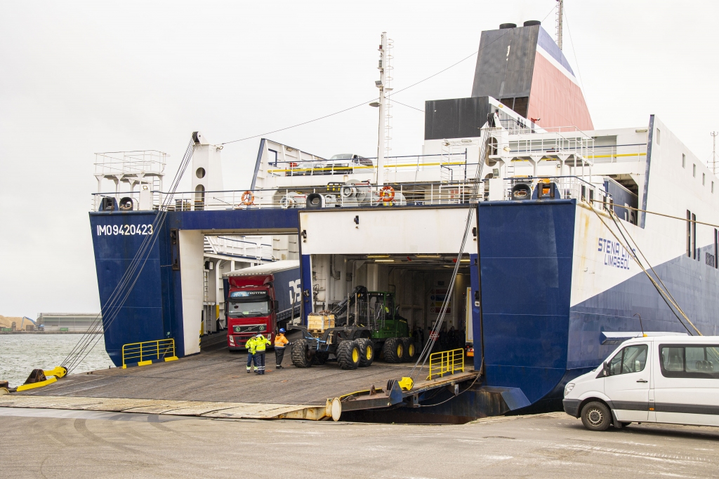
[[[160,227],[153,225],[158,215],[155,211],[90,213],[105,344],[116,366],[122,364],[124,344],[173,338],[180,356],[186,342],[199,341],[199,321],[188,320],[191,331],[183,324],[181,279],[183,266],[188,265],[177,261],[179,249],[172,244],[170,231],[286,234],[296,233],[298,225],[297,210],[176,211],[166,213]],[[131,275],[132,287],[114,301],[117,284],[146,238],[153,241],[142,254],[137,273]]]

